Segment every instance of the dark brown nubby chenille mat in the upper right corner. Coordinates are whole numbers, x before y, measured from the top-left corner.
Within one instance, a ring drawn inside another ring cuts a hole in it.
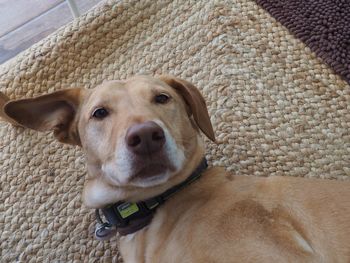
[[[256,0],[350,83],[349,0]]]

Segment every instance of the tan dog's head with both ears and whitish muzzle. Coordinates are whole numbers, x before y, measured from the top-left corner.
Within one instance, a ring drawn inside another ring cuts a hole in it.
[[[4,111],[25,127],[53,130],[59,141],[83,148],[89,174],[83,200],[89,207],[159,194],[203,158],[199,129],[215,140],[199,91],[172,76],[61,90],[10,101]]]

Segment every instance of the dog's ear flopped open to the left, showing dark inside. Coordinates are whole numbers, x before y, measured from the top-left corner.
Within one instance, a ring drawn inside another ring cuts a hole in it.
[[[66,89],[31,99],[10,100],[4,113],[18,124],[37,131],[54,131],[60,142],[80,145],[76,114],[86,91]]]

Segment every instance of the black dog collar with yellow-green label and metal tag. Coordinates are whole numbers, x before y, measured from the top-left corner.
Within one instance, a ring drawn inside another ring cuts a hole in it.
[[[160,195],[137,203],[120,201],[100,209],[107,222],[101,220],[100,211],[96,209],[96,219],[98,222],[95,231],[96,238],[100,240],[109,239],[115,231],[125,236],[144,228],[151,223],[158,206],[163,204],[173,194],[197,180],[207,167],[207,160],[204,158],[185,181],[173,186]]]

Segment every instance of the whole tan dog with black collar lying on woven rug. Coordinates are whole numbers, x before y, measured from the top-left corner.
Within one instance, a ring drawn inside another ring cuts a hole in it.
[[[8,101],[2,117],[82,147],[82,194],[127,263],[350,262],[350,184],[206,168],[215,135],[191,83],[135,76]]]

